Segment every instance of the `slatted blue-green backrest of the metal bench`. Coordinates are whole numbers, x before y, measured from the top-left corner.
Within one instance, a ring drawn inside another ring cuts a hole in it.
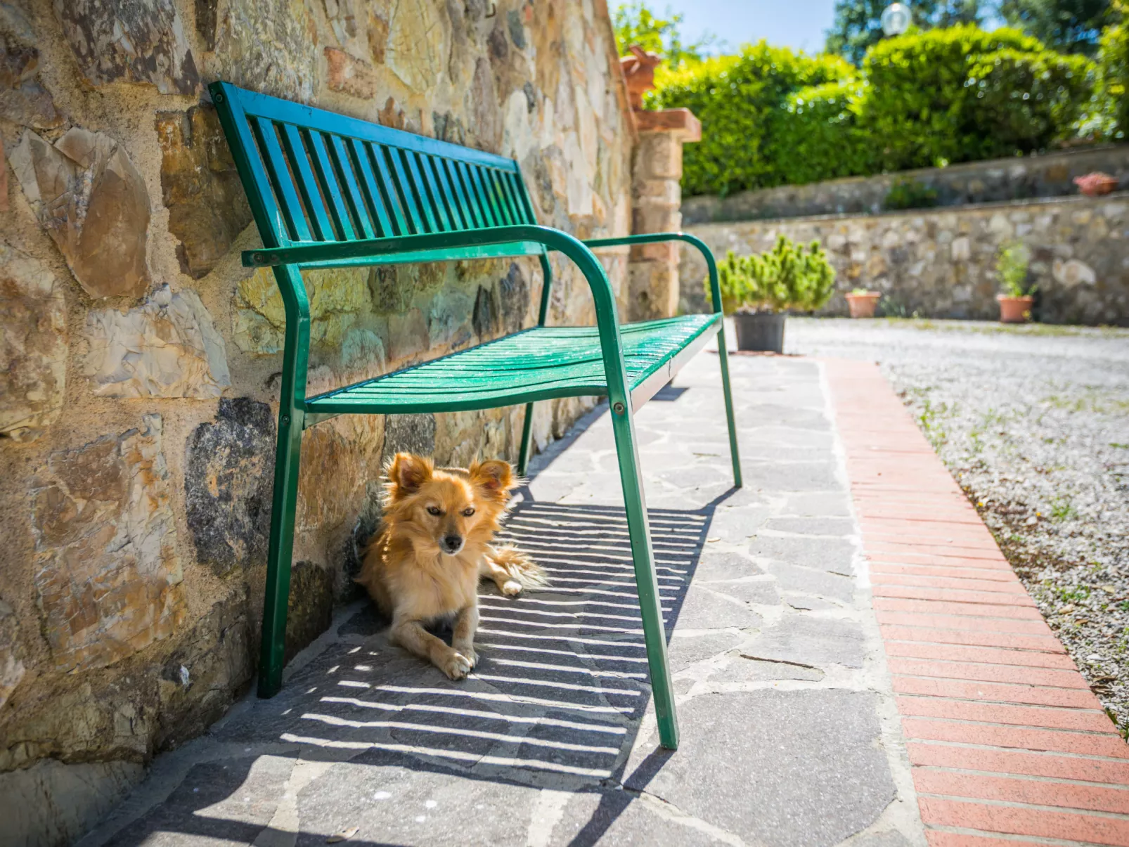
[[[228,82],[209,89],[265,247],[536,224],[513,159]]]

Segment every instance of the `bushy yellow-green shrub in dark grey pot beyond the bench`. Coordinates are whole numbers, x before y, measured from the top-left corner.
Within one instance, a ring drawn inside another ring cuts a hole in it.
[[[738,350],[784,350],[785,312],[820,308],[834,288],[835,271],[820,243],[805,250],[787,236],[760,255],[732,250],[718,264],[721,307],[733,315]],[[709,281],[707,280],[707,290]]]

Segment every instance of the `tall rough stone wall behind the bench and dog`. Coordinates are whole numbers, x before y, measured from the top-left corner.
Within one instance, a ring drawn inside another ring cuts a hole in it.
[[[0,50],[0,820],[62,844],[254,672],[282,305],[240,267],[259,236],[204,86],[513,156],[580,237],[630,232],[633,124],[604,0],[3,0]],[[554,269],[551,320],[592,322]],[[541,285],[526,260],[310,273],[309,390],[530,325]],[[589,405],[540,404],[537,445]],[[308,431],[288,650],[351,590],[384,457],[515,459],[519,433],[513,409]]]

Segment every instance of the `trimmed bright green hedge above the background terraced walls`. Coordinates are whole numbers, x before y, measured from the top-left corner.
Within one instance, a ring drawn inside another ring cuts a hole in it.
[[[657,81],[651,107],[702,122],[684,193],[725,195],[1045,149],[1075,133],[1094,70],[1014,29],[960,26],[887,38],[860,69],[761,42]]]

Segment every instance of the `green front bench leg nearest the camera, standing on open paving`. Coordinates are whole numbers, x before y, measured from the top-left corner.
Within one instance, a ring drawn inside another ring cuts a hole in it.
[[[650,543],[650,524],[647,521],[647,504],[644,500],[630,400],[619,402],[614,398],[610,400],[615,452],[620,461],[620,480],[623,483],[623,504],[628,515],[628,534],[631,539],[631,559],[634,562],[636,586],[639,591],[639,612],[642,615],[644,641],[647,645],[650,688],[655,697],[655,715],[658,718],[658,739],[667,750],[677,750],[679,721],[674,714],[674,688],[671,684],[671,666],[666,660],[663,604],[658,596],[658,580],[655,578],[655,556]]]

